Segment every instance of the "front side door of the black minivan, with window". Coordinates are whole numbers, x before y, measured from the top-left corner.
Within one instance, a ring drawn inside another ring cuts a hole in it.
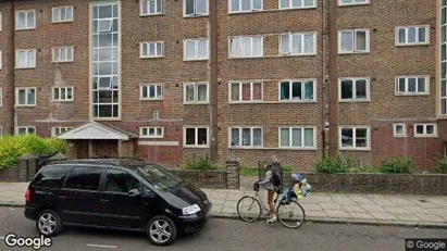
[[[142,227],[139,181],[127,171],[108,168],[103,184],[101,217],[104,224],[115,227]]]

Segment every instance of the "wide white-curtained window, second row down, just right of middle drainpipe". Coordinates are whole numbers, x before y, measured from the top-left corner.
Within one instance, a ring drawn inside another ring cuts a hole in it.
[[[232,37],[229,38],[229,58],[263,57],[263,37]]]

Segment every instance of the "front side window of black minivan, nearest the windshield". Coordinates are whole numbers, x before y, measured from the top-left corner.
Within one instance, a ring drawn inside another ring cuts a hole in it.
[[[138,188],[138,184],[139,181],[127,172],[113,168],[107,171],[105,191],[127,193]]]

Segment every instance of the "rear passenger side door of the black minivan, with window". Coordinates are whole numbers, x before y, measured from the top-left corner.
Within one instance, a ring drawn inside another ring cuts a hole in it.
[[[64,222],[101,225],[101,218],[98,217],[100,177],[101,170],[98,167],[76,166],[73,168],[64,188],[59,193]]]

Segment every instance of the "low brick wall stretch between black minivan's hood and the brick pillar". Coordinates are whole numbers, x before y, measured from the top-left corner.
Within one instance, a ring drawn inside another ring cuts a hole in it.
[[[200,188],[227,189],[227,172],[223,171],[193,171],[169,170],[173,175]]]

